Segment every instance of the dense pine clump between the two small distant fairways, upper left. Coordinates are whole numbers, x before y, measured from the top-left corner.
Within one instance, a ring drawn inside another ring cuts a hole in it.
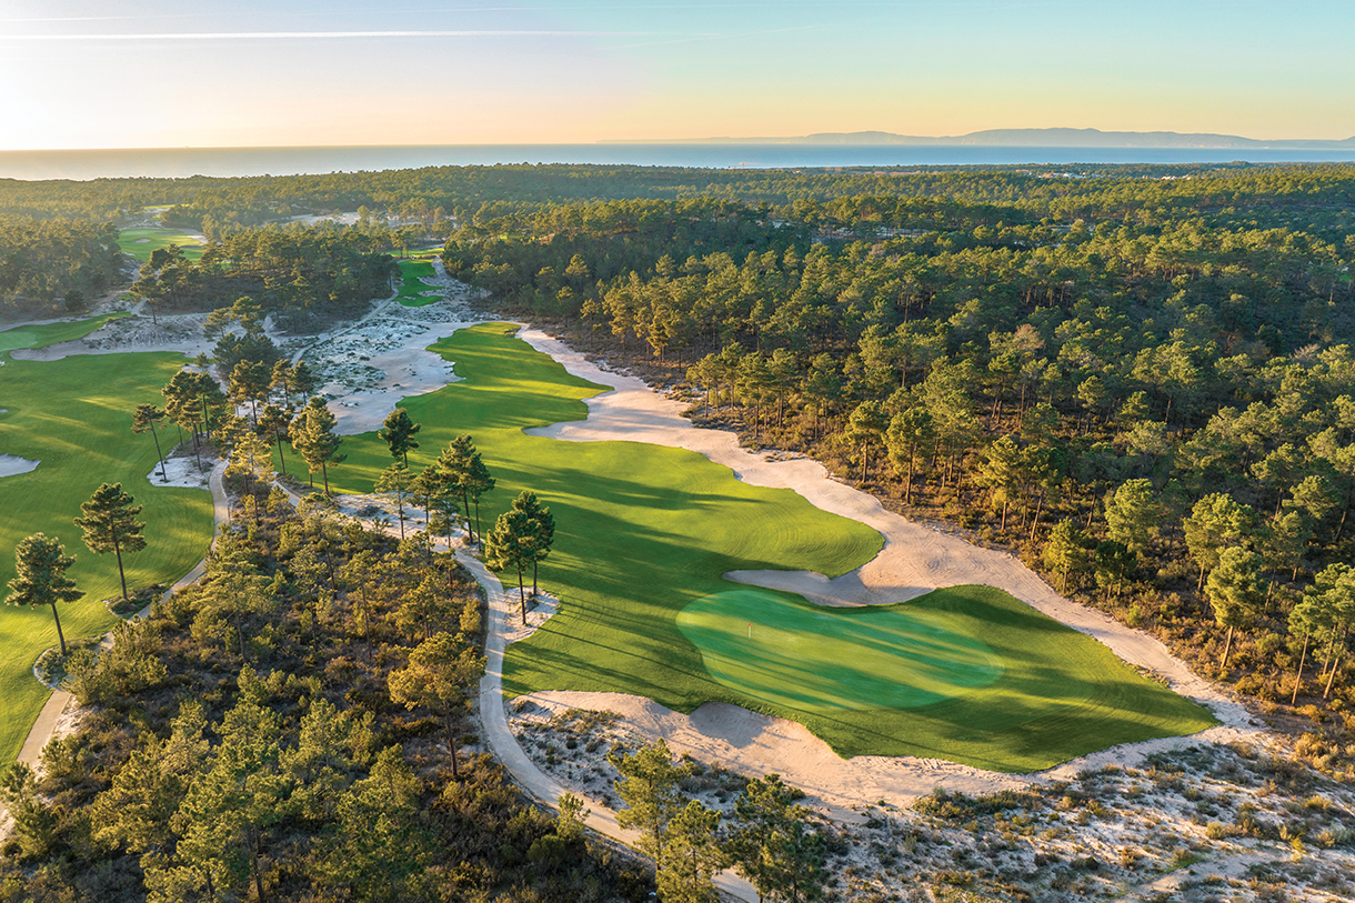
[[[157,310],[228,306],[241,296],[302,325],[352,313],[390,293],[398,274],[379,237],[335,226],[260,226],[213,241],[196,262],[152,252],[131,286]]]

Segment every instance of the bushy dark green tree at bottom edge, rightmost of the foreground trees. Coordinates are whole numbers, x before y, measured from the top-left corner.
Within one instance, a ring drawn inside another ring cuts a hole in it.
[[[805,903],[822,896],[828,847],[810,827],[809,809],[795,804],[799,796],[779,774],[767,774],[749,781],[734,803],[725,849],[763,900]]]

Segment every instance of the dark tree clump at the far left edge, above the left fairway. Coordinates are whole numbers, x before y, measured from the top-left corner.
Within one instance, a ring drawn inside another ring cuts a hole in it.
[[[61,316],[119,278],[111,222],[0,216],[0,317]]]

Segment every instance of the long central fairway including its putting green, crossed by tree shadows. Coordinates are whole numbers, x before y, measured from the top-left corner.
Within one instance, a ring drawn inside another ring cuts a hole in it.
[[[485,324],[436,343],[463,381],[402,401],[423,423],[423,445],[409,456],[416,470],[457,434],[474,435],[499,480],[481,506],[485,527],[523,488],[556,517],[556,550],[541,578],[561,611],[508,648],[509,696],[612,690],[682,712],[726,701],[798,720],[847,757],[913,754],[1004,771],[1214,723],[999,590],[822,611],[734,587],[720,575],[843,574],[870,560],[881,537],[789,489],[740,483],[691,452],[523,435],[584,419],[581,399],[604,386],[570,377],[511,332]],[[392,462],[375,434],[347,439],[343,452],[348,461],[331,470],[331,484],[346,492],[370,491]],[[749,621],[764,645],[740,651]],[[785,648],[794,652],[783,658]],[[894,686],[905,681],[913,686]]]

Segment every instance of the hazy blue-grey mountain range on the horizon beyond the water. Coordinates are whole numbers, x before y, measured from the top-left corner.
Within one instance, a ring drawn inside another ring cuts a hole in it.
[[[1180,132],[1102,132],[1100,129],[986,129],[969,134],[925,137],[892,132],[821,132],[797,138],[679,138],[663,141],[600,141],[599,144],[843,144],[912,146],[1008,148],[1238,148],[1274,150],[1355,150],[1355,137],[1340,141],[1262,141],[1236,134],[1182,134]]]

